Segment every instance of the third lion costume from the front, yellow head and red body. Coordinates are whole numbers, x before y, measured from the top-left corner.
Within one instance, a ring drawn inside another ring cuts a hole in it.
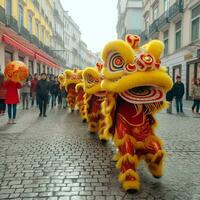
[[[65,70],[65,89],[67,91],[67,102],[71,109],[74,111],[76,106],[76,85],[81,82],[81,72],[78,69]]]

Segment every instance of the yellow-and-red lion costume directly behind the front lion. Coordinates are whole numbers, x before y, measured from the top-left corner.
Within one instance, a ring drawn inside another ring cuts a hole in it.
[[[83,79],[86,92],[86,109],[88,117],[88,129],[90,133],[99,133],[100,140],[108,140],[109,136],[103,133],[105,118],[101,112],[101,104],[105,99],[105,91],[101,88],[102,64],[96,67],[87,67],[83,71]]]

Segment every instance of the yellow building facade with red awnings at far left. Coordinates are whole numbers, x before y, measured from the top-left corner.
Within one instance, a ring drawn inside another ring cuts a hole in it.
[[[31,74],[55,73],[60,65],[51,51],[52,0],[0,1],[0,70],[11,60],[27,64]]]

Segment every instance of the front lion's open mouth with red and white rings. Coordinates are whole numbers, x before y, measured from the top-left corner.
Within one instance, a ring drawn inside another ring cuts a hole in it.
[[[120,96],[125,101],[134,104],[156,103],[165,99],[165,93],[158,86],[135,87],[120,93]]]

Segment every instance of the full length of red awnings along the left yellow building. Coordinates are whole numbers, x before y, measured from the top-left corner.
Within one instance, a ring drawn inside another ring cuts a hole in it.
[[[50,67],[59,68],[59,66],[56,63],[54,63],[52,60],[50,60],[49,58],[46,58],[44,55],[25,47],[23,44],[17,42],[16,40],[12,39],[10,36],[8,36],[6,34],[2,35],[2,41],[8,45],[13,46],[14,48],[18,49],[19,51],[22,51],[26,55],[36,58],[40,62],[42,62]]]

